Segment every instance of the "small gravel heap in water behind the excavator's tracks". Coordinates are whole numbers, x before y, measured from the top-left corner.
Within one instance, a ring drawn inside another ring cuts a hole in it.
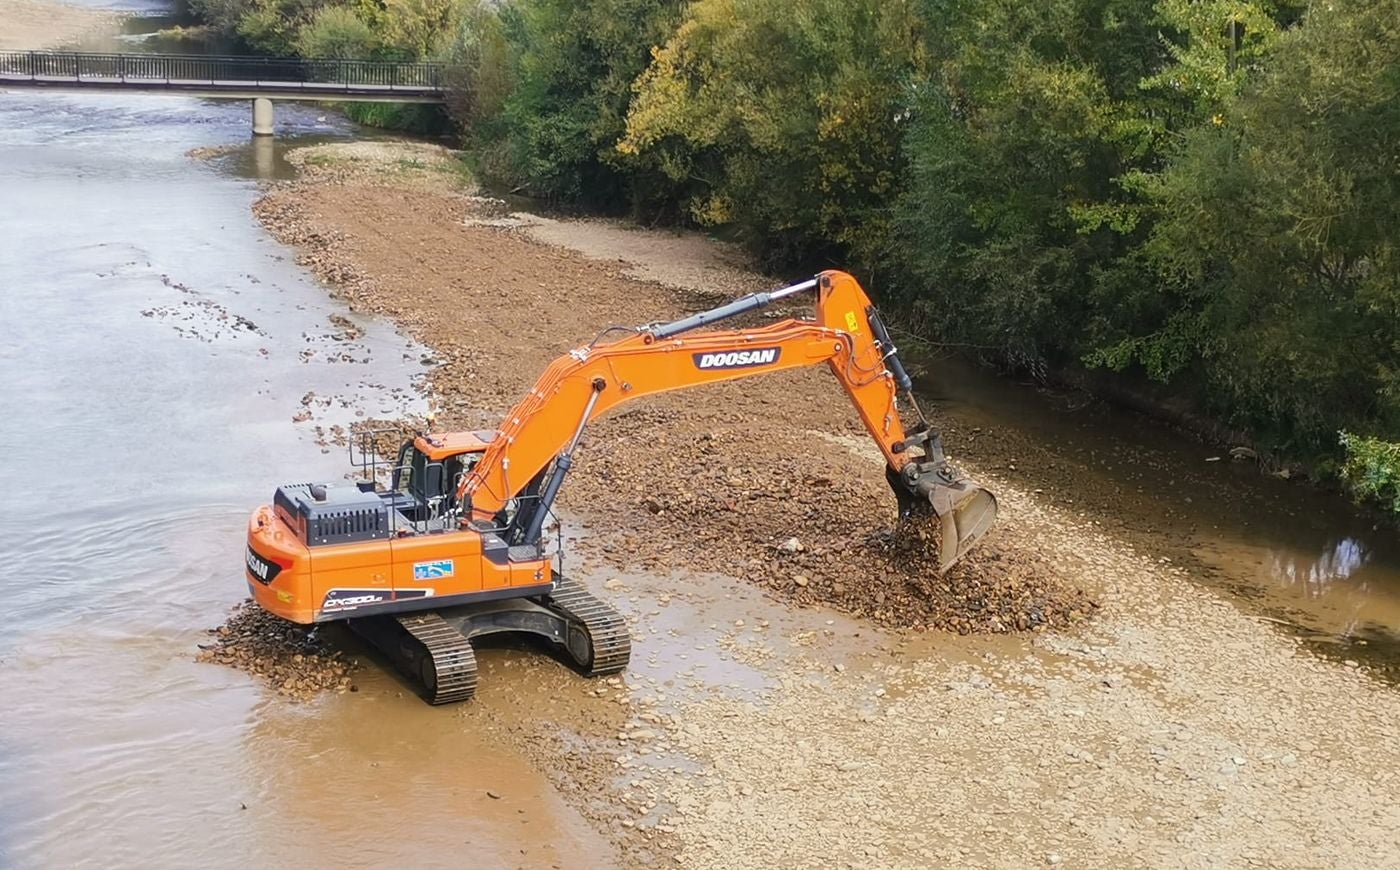
[[[354,664],[332,649],[315,626],[273,616],[251,598],[209,633],[214,640],[199,644],[199,661],[246,671],[281,695],[305,700],[328,691],[356,691],[350,681]]]

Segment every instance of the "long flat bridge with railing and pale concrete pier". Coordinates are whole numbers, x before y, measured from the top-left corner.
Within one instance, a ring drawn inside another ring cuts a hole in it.
[[[273,99],[444,101],[441,63],[218,55],[0,52],[0,88],[137,91],[251,99],[253,133],[270,136]]]

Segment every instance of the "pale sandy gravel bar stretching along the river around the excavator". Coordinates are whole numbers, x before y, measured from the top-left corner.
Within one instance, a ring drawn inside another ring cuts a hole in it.
[[[353,308],[434,347],[448,426],[494,422],[599,324],[694,308],[697,280],[764,283],[694,238],[503,214],[445,160],[312,157],[259,216]],[[910,590],[860,546],[892,506],[825,371],[619,413],[581,448],[568,534],[594,530],[578,570],[629,612],[633,668],[528,714],[487,695],[463,727],[532,754],[634,866],[1400,862],[1394,689],[1054,493],[972,471],[1004,509],[987,549],[1053,565],[1096,611],[1001,636],[882,628]]]

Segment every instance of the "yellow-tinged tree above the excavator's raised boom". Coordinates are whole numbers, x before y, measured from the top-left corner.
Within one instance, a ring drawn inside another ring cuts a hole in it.
[[[907,0],[699,0],[637,80],[617,151],[774,259],[874,265],[920,29]]]

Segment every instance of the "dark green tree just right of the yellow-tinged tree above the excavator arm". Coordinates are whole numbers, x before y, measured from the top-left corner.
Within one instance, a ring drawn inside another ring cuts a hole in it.
[[[899,297],[1019,364],[1093,347],[1134,304],[1141,198],[1168,43],[1152,0],[930,0],[932,74],[913,92],[892,247]]]

